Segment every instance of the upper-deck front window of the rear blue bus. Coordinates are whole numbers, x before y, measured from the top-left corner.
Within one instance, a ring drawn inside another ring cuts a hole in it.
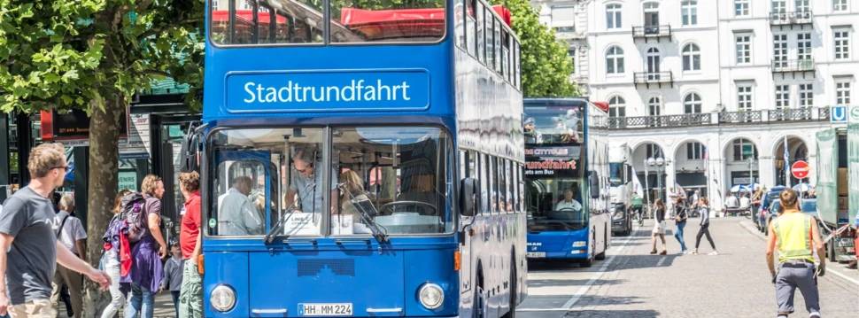
[[[526,144],[578,144],[584,138],[578,105],[528,106],[524,118]]]

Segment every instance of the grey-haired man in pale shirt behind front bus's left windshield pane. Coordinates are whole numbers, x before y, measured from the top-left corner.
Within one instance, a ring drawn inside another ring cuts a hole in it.
[[[237,176],[227,193],[218,197],[218,233],[225,236],[247,236],[263,234],[265,223],[259,210],[248,195],[251,193],[251,177]]]

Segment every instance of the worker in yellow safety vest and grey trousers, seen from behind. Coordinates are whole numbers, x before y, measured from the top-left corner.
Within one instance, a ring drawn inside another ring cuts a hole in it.
[[[778,317],[793,314],[793,293],[797,288],[805,299],[809,317],[820,317],[817,276],[826,274],[826,252],[820,240],[820,230],[814,218],[801,213],[796,191],[786,189],[778,198],[784,213],[770,223],[767,237],[767,266],[770,267],[772,283],[776,286]],[[773,252],[778,245],[778,271],[773,262]],[[815,248],[820,256],[820,266],[815,272]]]

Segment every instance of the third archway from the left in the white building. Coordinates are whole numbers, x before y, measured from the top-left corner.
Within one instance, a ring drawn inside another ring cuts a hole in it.
[[[724,183],[723,193],[725,198],[733,193],[734,195],[748,195],[747,191],[732,191],[731,189],[747,189],[753,183],[761,182],[760,167],[758,162],[758,147],[753,141],[747,138],[734,138],[728,142],[724,148]],[[767,186],[767,185],[764,185]],[[772,187],[772,184],[768,188]],[[754,189],[753,189],[754,190]]]

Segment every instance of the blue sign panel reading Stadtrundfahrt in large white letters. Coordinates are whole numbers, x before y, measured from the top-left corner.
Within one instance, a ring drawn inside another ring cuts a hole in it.
[[[422,70],[231,73],[228,112],[423,111],[430,74]]]

